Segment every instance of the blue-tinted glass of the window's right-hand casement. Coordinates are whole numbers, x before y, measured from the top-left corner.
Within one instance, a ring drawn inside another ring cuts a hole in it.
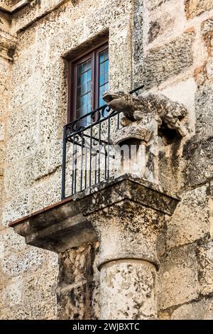
[[[105,104],[102,94],[109,86],[109,50],[99,53],[99,107]]]

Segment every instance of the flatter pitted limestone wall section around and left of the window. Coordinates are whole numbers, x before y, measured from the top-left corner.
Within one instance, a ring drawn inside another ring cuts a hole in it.
[[[67,120],[67,67],[62,57],[79,53],[109,34],[111,86],[131,87],[131,6],[131,0],[41,1],[13,14],[11,31],[17,32],[18,41],[11,69],[4,227],[60,200],[62,125]],[[2,236],[6,251],[1,265],[1,318],[55,318],[58,256],[27,247],[11,230],[4,233],[8,237]],[[97,293],[93,292],[98,287],[90,286],[99,280],[85,287],[79,274],[87,269],[78,261],[86,261],[89,247],[63,254],[67,261],[70,254],[76,256],[70,283],[75,289],[74,297],[67,293],[67,303],[62,298],[60,307],[60,296],[65,296],[70,284],[66,288],[66,279],[59,276],[60,318],[99,316]],[[89,270],[86,281],[94,280],[89,279],[93,276]],[[18,295],[15,301],[11,301],[13,290]]]

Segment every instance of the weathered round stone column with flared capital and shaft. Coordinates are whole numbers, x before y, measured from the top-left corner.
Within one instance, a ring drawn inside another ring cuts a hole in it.
[[[122,176],[78,203],[100,242],[101,319],[157,318],[156,244],[178,199]]]

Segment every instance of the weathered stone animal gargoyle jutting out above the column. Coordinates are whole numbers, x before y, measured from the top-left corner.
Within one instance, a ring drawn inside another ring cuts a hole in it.
[[[145,114],[153,113],[158,128],[164,125],[174,129],[181,137],[187,134],[187,129],[181,122],[187,115],[187,109],[183,104],[174,102],[163,94],[148,92],[136,96],[118,91],[105,92],[102,97],[111,109],[124,113],[121,119],[122,126],[143,119]]]

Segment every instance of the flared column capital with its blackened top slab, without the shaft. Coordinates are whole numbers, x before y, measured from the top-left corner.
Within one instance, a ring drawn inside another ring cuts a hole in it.
[[[119,259],[140,259],[158,268],[158,235],[179,200],[129,174],[75,195],[101,244],[99,268]]]

